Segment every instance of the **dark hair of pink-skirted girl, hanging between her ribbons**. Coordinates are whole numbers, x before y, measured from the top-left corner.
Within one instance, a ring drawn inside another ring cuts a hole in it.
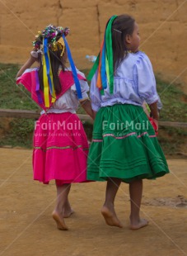
[[[62,50],[57,45],[58,50],[52,51],[49,49],[49,58],[50,58],[50,64],[51,69],[53,73],[54,78],[54,90],[55,93],[58,95],[62,91],[62,87],[58,78],[58,71],[59,67],[62,67],[62,70],[65,70],[65,62],[66,62],[66,50],[64,50],[63,56],[61,57]],[[40,62],[40,68],[39,68],[39,81],[40,81],[40,90],[44,91],[44,80],[43,80],[43,64],[42,64],[42,56],[39,54],[39,62]]]

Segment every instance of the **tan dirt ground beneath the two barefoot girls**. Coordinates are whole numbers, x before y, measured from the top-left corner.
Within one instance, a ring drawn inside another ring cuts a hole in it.
[[[178,256],[187,255],[187,160],[170,159],[171,173],[145,181],[142,216],[150,225],[129,230],[129,190],[122,184],[116,211],[123,229],[105,225],[105,183],[73,184],[75,213],[68,231],[56,229],[51,212],[55,185],[32,180],[31,150],[0,149],[0,255]]]

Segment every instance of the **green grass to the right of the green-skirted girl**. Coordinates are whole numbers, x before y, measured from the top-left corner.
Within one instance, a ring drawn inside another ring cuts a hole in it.
[[[182,85],[163,81],[157,76],[157,91],[163,103],[160,120],[187,122],[187,95],[182,91]],[[186,136],[185,128],[162,127],[158,141],[165,154],[172,156],[183,151]]]

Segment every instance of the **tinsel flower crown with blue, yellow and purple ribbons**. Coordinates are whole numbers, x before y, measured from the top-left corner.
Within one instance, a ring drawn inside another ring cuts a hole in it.
[[[44,107],[50,106],[50,98],[51,102],[55,102],[56,94],[54,90],[54,78],[50,64],[49,58],[49,50],[56,51],[58,49],[62,50],[61,56],[63,56],[64,50],[66,48],[68,54],[68,60],[72,68],[72,76],[77,89],[77,97],[79,99],[82,98],[81,86],[79,83],[79,79],[77,78],[77,70],[75,68],[75,64],[72,60],[71,51],[68,46],[68,41],[66,40],[66,36],[69,33],[68,27],[63,28],[62,26],[53,26],[49,25],[45,27],[44,31],[38,32],[38,35],[35,36],[35,41],[33,45],[35,46],[35,50],[42,50],[42,64],[43,64],[43,82],[44,82]],[[36,93],[38,95],[39,102],[41,102],[40,97],[40,85],[39,83],[36,86]]]

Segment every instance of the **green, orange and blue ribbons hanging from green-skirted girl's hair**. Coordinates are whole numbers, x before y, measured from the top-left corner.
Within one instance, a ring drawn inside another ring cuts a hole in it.
[[[101,51],[97,56],[96,62],[93,65],[90,73],[87,76],[88,80],[91,80],[93,75],[97,74],[96,86],[101,90],[101,94],[104,94],[104,89],[107,87],[107,81],[110,86],[110,93],[113,93],[114,89],[114,66],[113,66],[113,50],[112,50],[112,23],[117,16],[110,17],[108,24],[105,28],[104,40],[101,44]]]

